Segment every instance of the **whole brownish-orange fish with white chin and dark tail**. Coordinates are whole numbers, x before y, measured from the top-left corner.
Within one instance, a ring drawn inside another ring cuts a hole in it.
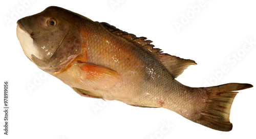
[[[163,53],[146,37],[56,6],[19,19],[16,35],[30,61],[82,97],[165,108],[219,131],[232,129],[229,115],[237,90],[253,87],[183,85],[176,78],[196,65],[194,60]]]

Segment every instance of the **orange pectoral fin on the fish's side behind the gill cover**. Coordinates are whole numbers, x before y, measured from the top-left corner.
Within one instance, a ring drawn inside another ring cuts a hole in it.
[[[82,81],[87,85],[99,88],[113,87],[121,80],[121,76],[111,68],[91,63],[78,62],[82,69]]]

